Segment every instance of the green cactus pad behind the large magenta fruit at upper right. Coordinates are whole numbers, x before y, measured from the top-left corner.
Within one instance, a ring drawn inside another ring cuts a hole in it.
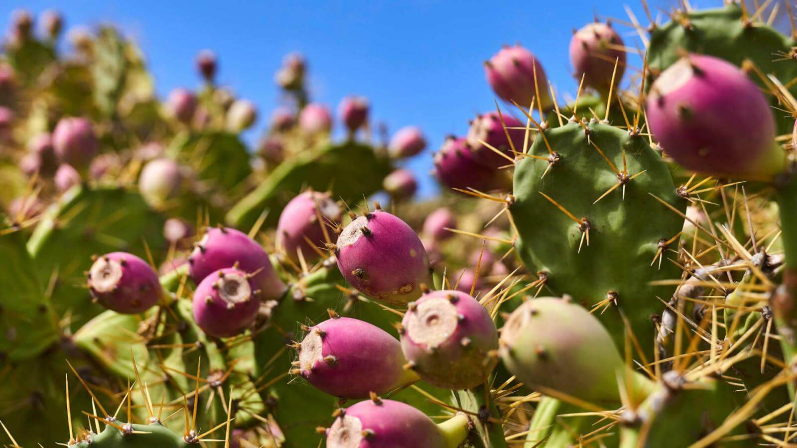
[[[748,10],[748,19],[751,14]],[[658,26],[650,33],[647,51],[650,76],[658,75],[688,51],[721,57],[739,66],[750,60],[761,73],[773,73],[784,84],[797,77],[797,61],[793,58],[797,41],[758,18],[746,22],[743,17],[742,8],[732,3],[720,9],[692,11]],[[750,77],[764,87],[755,73],[750,73]],[[797,84],[791,85],[790,90],[797,95]],[[772,101],[777,105],[777,100]],[[785,113],[775,116],[779,117],[779,133],[791,132],[794,118]]]

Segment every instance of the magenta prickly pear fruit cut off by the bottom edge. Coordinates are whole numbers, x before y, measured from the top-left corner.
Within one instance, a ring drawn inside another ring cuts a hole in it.
[[[408,404],[361,401],[340,412],[327,430],[328,448],[456,448],[467,437],[468,419],[455,415],[440,425]]]

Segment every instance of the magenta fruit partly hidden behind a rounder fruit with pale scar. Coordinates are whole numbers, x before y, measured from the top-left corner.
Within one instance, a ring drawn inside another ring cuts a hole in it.
[[[253,284],[261,290],[264,301],[278,299],[285,293],[285,283],[277,277],[269,254],[240,230],[211,228],[197,243],[188,258],[189,274],[199,284],[205,277],[238,263],[238,269],[251,273]]]

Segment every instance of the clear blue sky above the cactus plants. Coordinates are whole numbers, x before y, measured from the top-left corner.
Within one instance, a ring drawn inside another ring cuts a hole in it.
[[[143,48],[162,96],[178,86],[197,87],[194,56],[213,49],[220,59],[218,81],[261,110],[256,130],[246,136],[250,142],[279,103],[273,73],[282,55],[298,50],[309,60],[314,100],[335,108],[347,94],[364,95],[371,100],[372,117],[386,121],[391,131],[406,124],[425,130],[430,147],[409,164],[422,195],[429,195],[437,188],[428,175],[432,151],[445,136],[465,134],[476,112],[494,109],[482,61],[502,44],[520,42],[536,53],[560,92],[575,93],[567,58],[571,30],[590,22],[595,12],[627,17],[623,2],[614,0],[268,3],[6,0],[0,25],[6,29],[11,11],[22,6],[34,13],[57,7],[67,29],[116,23]],[[636,0],[627,3],[643,18]],[[619,28],[626,45],[638,45],[630,29]]]

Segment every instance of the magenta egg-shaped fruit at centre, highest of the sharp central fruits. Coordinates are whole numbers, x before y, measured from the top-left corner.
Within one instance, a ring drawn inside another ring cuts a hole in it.
[[[418,235],[400,218],[375,210],[355,218],[338,237],[344,278],[388,305],[406,305],[430,284],[429,258]]]

